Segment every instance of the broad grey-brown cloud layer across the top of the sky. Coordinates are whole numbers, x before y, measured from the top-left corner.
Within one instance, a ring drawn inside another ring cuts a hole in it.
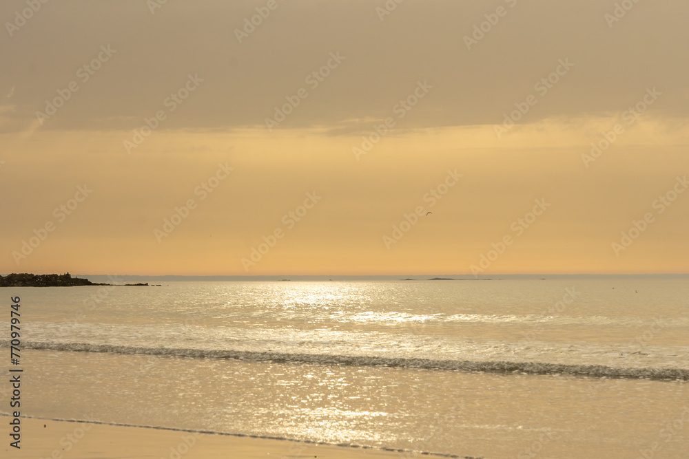
[[[689,39],[685,1],[639,3],[614,28],[604,19],[613,3],[515,2],[471,50],[464,36],[495,2],[405,2],[383,21],[378,3],[280,3],[239,43],[235,30],[265,2],[167,2],[151,14],[142,1],[65,0],[3,43],[12,65],[0,85],[17,87],[3,129],[23,129],[103,45],[117,54],[42,129],[134,129],[189,73],[206,83],[166,129],[265,125],[331,52],[346,61],[280,128],[356,130],[349,120],[389,116],[420,79],[433,92],[400,128],[495,124],[564,58],[575,67],[524,122],[622,111],[654,85],[667,94],[654,110],[688,114],[687,58],[669,52]]]

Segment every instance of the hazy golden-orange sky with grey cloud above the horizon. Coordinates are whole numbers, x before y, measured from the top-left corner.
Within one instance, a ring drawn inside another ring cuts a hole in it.
[[[0,273],[689,273],[687,14],[3,1]]]

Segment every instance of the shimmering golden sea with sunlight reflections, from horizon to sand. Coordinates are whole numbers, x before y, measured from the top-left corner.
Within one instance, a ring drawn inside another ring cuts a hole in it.
[[[402,457],[689,458],[686,279],[158,283],[5,288],[22,414]]]

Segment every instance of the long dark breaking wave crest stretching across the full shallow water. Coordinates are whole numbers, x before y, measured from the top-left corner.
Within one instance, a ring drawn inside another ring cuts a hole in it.
[[[0,341],[0,347],[8,347]],[[103,352],[111,354],[144,354],[187,357],[192,359],[228,359],[271,363],[313,363],[318,365],[352,365],[364,367],[404,367],[422,370],[460,370],[502,374],[566,374],[593,378],[648,378],[689,381],[689,370],[661,367],[611,367],[607,365],[572,365],[534,361],[462,361],[449,359],[413,359],[407,357],[348,356],[333,354],[299,354],[245,350],[200,350],[189,348],[145,348],[125,345],[90,343],[41,343],[27,341],[23,348],[65,352]]]

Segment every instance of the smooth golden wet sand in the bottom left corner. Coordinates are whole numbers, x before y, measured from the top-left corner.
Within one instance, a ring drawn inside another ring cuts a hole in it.
[[[8,419],[4,418],[3,419]],[[399,452],[69,421],[21,419],[21,449],[5,458],[399,458]]]

